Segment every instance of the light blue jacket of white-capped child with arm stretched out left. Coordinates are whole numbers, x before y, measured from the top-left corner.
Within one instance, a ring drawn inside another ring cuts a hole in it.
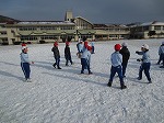
[[[149,51],[136,52],[138,55],[142,55],[142,63],[151,63]]]

